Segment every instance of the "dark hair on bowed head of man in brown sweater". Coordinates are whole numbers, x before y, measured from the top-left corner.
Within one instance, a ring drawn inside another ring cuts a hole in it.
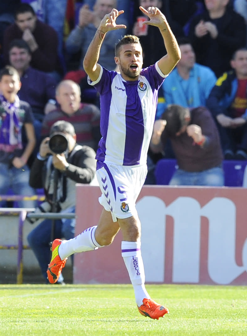
[[[176,104],[168,105],[161,119],[166,120],[166,131],[170,136],[176,135],[186,125],[185,116],[189,113],[189,108]]]

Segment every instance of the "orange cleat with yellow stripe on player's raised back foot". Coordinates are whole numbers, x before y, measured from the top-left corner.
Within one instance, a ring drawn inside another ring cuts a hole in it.
[[[68,259],[66,258],[64,260],[61,260],[58,254],[58,248],[61,245],[61,243],[62,243],[61,239],[55,239],[51,245],[52,256],[51,261],[48,265],[48,269],[46,271],[49,283],[51,284],[55,284],[55,282],[58,281],[58,278],[62,272],[62,268],[65,266],[66,260]]]

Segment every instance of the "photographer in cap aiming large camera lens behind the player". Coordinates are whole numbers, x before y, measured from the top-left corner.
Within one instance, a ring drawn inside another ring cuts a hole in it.
[[[46,201],[36,209],[36,212],[75,212],[75,184],[90,183],[95,172],[94,150],[89,146],[80,146],[76,143],[72,124],[66,121],[57,121],[51,127],[50,137],[46,137],[41,142],[39,153],[30,171],[30,185],[34,188],[43,187],[46,194]],[[54,186],[56,201],[54,201]],[[33,219],[29,220],[34,222]],[[46,280],[51,237],[67,240],[73,238],[75,218],[56,219],[54,225],[52,224],[51,219],[42,220],[27,237]],[[54,232],[52,233],[53,226]],[[64,283],[62,274],[58,283]]]

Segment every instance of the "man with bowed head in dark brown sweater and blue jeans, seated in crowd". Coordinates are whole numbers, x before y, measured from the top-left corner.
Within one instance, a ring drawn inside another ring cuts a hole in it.
[[[178,163],[170,185],[224,185],[220,138],[206,108],[168,106],[154,123],[151,151],[162,152],[168,138]]]

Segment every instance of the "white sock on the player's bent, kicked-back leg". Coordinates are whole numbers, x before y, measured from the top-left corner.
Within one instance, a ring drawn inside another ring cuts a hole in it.
[[[92,251],[102,247],[95,239],[96,227],[97,226],[91,226],[78,236],[70,240],[63,240],[58,248],[60,258],[63,260],[76,252]]]

